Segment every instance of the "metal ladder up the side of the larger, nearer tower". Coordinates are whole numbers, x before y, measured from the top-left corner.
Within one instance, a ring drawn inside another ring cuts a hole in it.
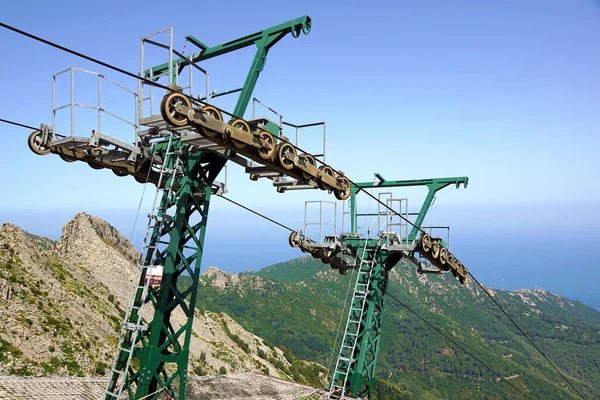
[[[142,252],[137,262],[137,270],[135,278],[137,283],[134,283],[131,293],[129,296],[129,302],[127,311],[121,326],[121,334],[119,336],[119,345],[117,347],[117,353],[111,367],[111,377],[106,385],[104,393],[105,399],[121,399],[121,395],[125,385],[125,379],[131,365],[131,359],[134,356],[136,350],[136,344],[138,343],[138,337],[140,333],[148,330],[148,326],[144,325],[142,321],[142,313],[144,305],[147,303],[149,295],[149,279],[147,279],[148,270],[154,267],[154,261],[156,260],[156,254],[158,253],[158,238],[161,236],[160,232],[168,223],[168,216],[166,214],[169,208],[171,199],[171,193],[173,191],[173,182],[178,173],[180,173],[180,151],[171,150],[173,142],[173,133],[169,135],[169,141],[167,143],[167,149],[164,153],[162,165],[160,167],[160,175],[156,185],[156,193],[154,195],[154,201],[152,203],[152,211],[148,214],[148,225],[146,226],[146,232],[144,234],[144,241]],[[171,158],[175,157],[174,161]],[[172,168],[168,168],[169,163],[172,161]],[[169,179],[170,178],[170,179]],[[163,187],[163,182],[165,183]],[[165,194],[166,193],[166,194]],[[159,197],[162,199],[161,203],[157,205]],[[156,236],[156,243],[148,243],[148,239],[151,237],[150,234],[153,231],[158,230],[159,234]],[[151,254],[150,258],[146,254]],[[146,262],[148,261],[148,262]],[[141,293],[141,296],[139,295]],[[119,367],[119,359],[121,355],[127,354],[127,361],[122,367]],[[116,385],[111,389],[111,382],[117,376]]]

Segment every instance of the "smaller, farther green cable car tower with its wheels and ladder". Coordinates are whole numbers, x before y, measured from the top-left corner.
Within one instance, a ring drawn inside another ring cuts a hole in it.
[[[344,334],[332,371],[329,399],[371,398],[389,271],[402,258],[415,264],[419,273],[450,271],[462,284],[469,280],[464,265],[449,251],[449,228],[422,226],[436,193],[450,185],[456,188],[463,185],[466,188],[468,178],[387,181],[380,174],[375,176],[374,182],[352,184],[348,212],[350,232],[342,232],[339,237],[325,236],[321,243],[308,239],[300,230],[292,232],[289,238],[292,247],[299,247],[303,252],[321,259],[341,274],[347,274],[350,269],[357,272]],[[377,213],[358,213],[356,197],[360,190],[411,186],[425,186],[428,189],[419,212],[409,213],[408,199],[396,199],[391,192],[387,192],[379,194],[379,205],[383,204],[384,207],[378,207]],[[373,238],[359,234],[359,217],[375,217],[367,230],[369,235],[377,223]],[[434,230],[440,229],[448,233],[446,240],[432,236]],[[432,269],[432,266],[435,268]]]

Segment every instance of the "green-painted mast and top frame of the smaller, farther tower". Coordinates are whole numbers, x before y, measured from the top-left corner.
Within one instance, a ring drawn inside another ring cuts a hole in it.
[[[428,194],[421,206],[419,214],[415,221],[415,227],[411,230],[408,238],[403,238],[405,242],[411,242],[417,238],[419,228],[421,227],[423,220],[431,204],[434,200],[435,194],[451,185],[455,184],[458,188],[461,184],[466,187],[468,184],[467,177],[451,177],[451,178],[434,178],[434,179],[418,179],[418,180],[401,180],[401,181],[387,181],[381,174],[375,175],[379,182],[358,182],[352,187],[350,195],[350,225],[352,234],[344,238],[344,244],[350,250],[352,254],[356,254],[358,259],[374,260],[373,265],[361,264],[360,268],[372,268],[371,280],[368,287],[368,297],[366,299],[366,310],[361,312],[353,307],[357,300],[356,293],[352,297],[351,307],[348,314],[346,324],[357,318],[361,321],[361,330],[357,337],[356,346],[352,354],[345,354],[344,349],[348,347],[348,341],[351,338],[344,337],[342,339],[342,345],[340,349],[340,357],[347,358],[351,361],[348,362],[346,367],[348,368],[348,379],[345,386],[345,394],[353,397],[371,398],[373,394],[374,382],[375,382],[375,368],[377,365],[377,357],[379,354],[379,345],[381,337],[381,328],[383,324],[384,315],[384,300],[386,289],[388,285],[388,272],[400,261],[402,254],[398,252],[389,252],[381,249],[377,243],[378,239],[371,238],[359,238],[358,235],[358,222],[357,218],[359,215],[356,204],[356,196],[361,189],[370,188],[391,188],[391,187],[409,187],[409,186],[426,186],[428,188]],[[375,214],[376,215],[376,214]],[[364,271],[363,271],[364,272]],[[361,279],[359,272],[358,279]],[[336,373],[333,371],[332,376],[332,387],[335,381],[342,381],[344,379],[343,374]]]

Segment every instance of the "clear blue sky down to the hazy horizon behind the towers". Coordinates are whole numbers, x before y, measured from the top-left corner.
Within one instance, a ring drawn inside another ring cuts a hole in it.
[[[600,307],[599,4],[20,1],[0,4],[0,20],[137,72],[139,38],[169,25],[182,50],[186,34],[215,45],[308,14],[312,32],[287,36],[271,50],[254,94],[290,122],[326,120],[328,162],[354,180],[371,180],[374,172],[387,179],[469,176],[466,190],[440,193],[427,221],[452,225],[455,252],[467,267],[491,286],[537,285]],[[0,46],[0,118],[51,123],[51,76],[70,66],[136,87],[4,29]],[[252,55],[247,49],[207,62],[211,90],[241,86]],[[151,56],[159,63],[166,53]],[[68,90],[68,81],[58,82],[61,101]],[[95,90],[92,81],[76,83],[78,101],[93,101]],[[105,95],[107,109],[131,115],[130,99]],[[59,115],[61,126],[65,118]],[[82,114],[76,134],[89,136],[92,120]],[[131,130],[105,124],[106,133],[133,141]],[[87,211],[129,235],[141,185],[35,156],[21,128],[2,125],[0,132],[0,221],[56,238],[75,213]],[[318,151],[316,140],[302,140]],[[231,198],[293,227],[303,223],[304,200],[332,199],[277,194],[236,166],[228,184]],[[142,215],[153,194],[148,189]],[[423,195],[398,193],[414,207]],[[209,221],[204,266],[255,269],[300,255],[286,247],[285,231],[220,199]],[[234,251],[232,235],[239,239]]]

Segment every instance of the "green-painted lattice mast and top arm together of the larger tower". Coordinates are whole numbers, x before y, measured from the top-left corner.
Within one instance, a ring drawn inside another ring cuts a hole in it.
[[[200,47],[201,52],[191,57],[192,62],[209,58],[256,44],[257,52],[250,71],[241,89],[230,92],[240,92],[233,114],[242,117],[250,102],[256,82],[262,72],[269,49],[286,34],[292,33],[297,37],[300,32],[308,34],[311,20],[308,16],[291,20],[273,28],[245,36],[215,47],[208,47],[192,36],[188,40]],[[190,63],[188,59],[174,60],[171,83],[175,83],[175,74]],[[161,64],[145,71],[149,78],[168,71],[169,64]],[[160,140],[155,144],[155,154],[165,157],[168,140]],[[176,138],[172,140],[171,150],[176,149],[183,160],[181,174],[174,183],[176,191],[169,196],[164,192],[158,216],[162,217],[164,210],[169,210],[173,221],[167,229],[152,231],[150,247],[145,255],[147,263],[153,259],[159,260],[164,266],[162,282],[159,287],[152,288],[144,296],[143,289],[138,289],[134,298],[134,309],[128,319],[129,323],[137,320],[135,307],[151,302],[154,306],[154,316],[147,330],[138,335],[129,372],[121,383],[131,399],[157,399],[162,392],[176,398],[185,398],[187,381],[187,366],[189,359],[189,344],[196,308],[196,293],[200,266],[204,250],[208,209],[212,193],[212,183],[225,166],[227,159],[211,152],[188,152],[188,146]],[[173,161],[167,157],[167,168],[173,168]],[[167,181],[166,185],[170,182]],[[167,186],[168,187],[168,186]],[[192,223],[197,219],[198,221]],[[184,253],[185,250],[185,253]],[[154,257],[154,258],[153,258]],[[148,265],[148,264],[146,264]],[[186,284],[181,285],[182,277]],[[139,285],[144,286],[145,273],[140,278]],[[171,316],[180,310],[185,316],[181,326],[173,326]],[[129,338],[131,339],[131,337]],[[123,348],[132,347],[131,340]],[[126,366],[129,353],[121,349],[118,354],[117,370]],[[119,381],[118,373],[110,377],[109,389],[114,391]],[[107,400],[114,397],[106,396]]]

